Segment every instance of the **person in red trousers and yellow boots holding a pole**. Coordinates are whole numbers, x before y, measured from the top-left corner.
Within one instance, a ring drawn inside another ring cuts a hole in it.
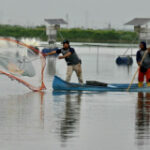
[[[150,48],[148,48],[148,53],[146,54],[142,64],[141,60],[147,50],[147,46],[145,42],[141,42],[140,50],[136,54],[136,60],[139,67],[139,74],[138,74],[138,86],[142,87],[144,82],[144,77],[146,76],[146,83],[147,86],[150,86]]]

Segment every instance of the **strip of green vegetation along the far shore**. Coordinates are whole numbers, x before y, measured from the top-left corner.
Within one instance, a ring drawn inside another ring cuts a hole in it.
[[[71,42],[83,43],[112,43],[112,44],[131,44],[138,43],[136,32],[115,29],[82,29],[82,28],[62,28],[59,30],[64,39]],[[47,41],[46,27],[24,27],[18,25],[0,25],[0,36],[21,38],[36,38],[41,41]],[[57,41],[62,41],[60,34],[57,35]]]

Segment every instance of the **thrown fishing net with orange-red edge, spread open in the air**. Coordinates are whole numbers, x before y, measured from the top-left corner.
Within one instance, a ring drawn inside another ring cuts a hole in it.
[[[39,91],[45,89],[44,68],[45,58],[38,48],[0,37],[0,75]]]

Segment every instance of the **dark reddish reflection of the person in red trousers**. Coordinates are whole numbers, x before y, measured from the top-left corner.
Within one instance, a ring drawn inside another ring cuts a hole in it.
[[[150,145],[150,93],[138,93],[136,140],[138,146]]]

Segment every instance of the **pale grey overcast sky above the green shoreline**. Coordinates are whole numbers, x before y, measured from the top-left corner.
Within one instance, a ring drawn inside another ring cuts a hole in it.
[[[135,17],[150,17],[150,0],[0,0],[0,22],[44,24],[44,18],[64,18],[70,27],[115,28]]]

